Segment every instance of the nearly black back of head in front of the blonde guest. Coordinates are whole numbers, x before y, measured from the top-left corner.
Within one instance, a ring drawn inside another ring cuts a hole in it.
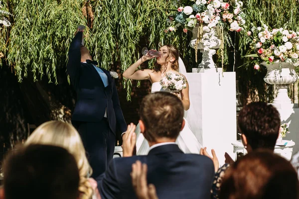
[[[29,145],[4,161],[5,199],[76,199],[79,173],[74,157],[50,145]]]

